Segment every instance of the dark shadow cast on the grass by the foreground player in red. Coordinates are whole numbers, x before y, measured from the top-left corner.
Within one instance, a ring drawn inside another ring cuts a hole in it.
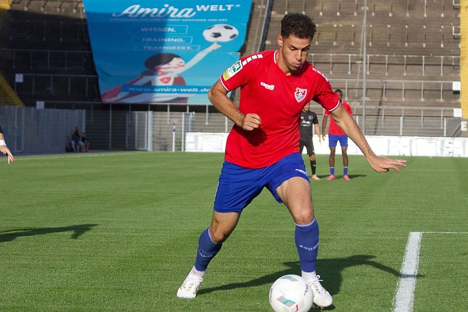
[[[392,268],[385,266],[381,263],[378,263],[374,260],[375,258],[373,255],[369,254],[358,254],[353,255],[346,258],[331,258],[331,259],[320,259],[317,260],[317,268],[319,268],[319,272],[322,277],[324,278],[323,286],[327,289],[331,295],[334,295],[340,292],[341,283],[343,281],[342,272],[346,268],[365,265],[370,266],[375,269],[393,274],[395,276],[400,276],[400,273],[393,270]],[[264,275],[250,281],[240,282],[240,283],[231,283],[227,285],[220,285],[212,288],[203,289],[201,288],[198,291],[198,294],[205,294],[214,291],[223,291],[223,290],[230,290],[235,288],[246,288],[246,287],[253,287],[253,286],[260,286],[265,284],[273,284],[273,282],[280,276],[286,274],[298,274],[300,275],[301,268],[299,261],[294,262],[284,262],[288,268],[275,272],[272,274]],[[332,307],[331,307],[332,308]]]

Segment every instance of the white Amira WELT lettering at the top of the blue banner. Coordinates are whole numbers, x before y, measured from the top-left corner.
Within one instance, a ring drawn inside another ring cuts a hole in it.
[[[240,4],[196,4],[195,8],[176,8],[173,5],[164,4],[160,8],[144,8],[139,4],[133,4],[120,13],[112,13],[115,18],[193,18],[198,12],[223,12],[232,11],[240,7]]]

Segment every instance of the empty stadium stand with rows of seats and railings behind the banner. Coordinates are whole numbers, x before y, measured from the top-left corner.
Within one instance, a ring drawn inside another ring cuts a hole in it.
[[[308,60],[327,75],[333,88],[345,92],[358,123],[366,71],[367,134],[444,135],[445,118],[460,107],[460,94],[451,89],[452,81],[460,79],[459,7],[448,0],[367,2],[365,69],[363,0],[254,0],[241,53],[258,50],[264,27],[265,49],[276,49],[284,14],[305,13],[317,24]],[[26,105],[45,100],[48,107],[85,109],[94,148],[126,148],[122,129],[129,110],[155,111],[153,145],[160,150],[171,149],[172,122],[180,125],[186,111],[196,111],[194,131],[225,132],[233,125],[211,105],[101,104],[81,1],[13,0],[10,10],[2,13],[0,69],[6,81]],[[23,82],[15,83],[16,73],[23,74]],[[314,107],[321,120],[323,111]]]

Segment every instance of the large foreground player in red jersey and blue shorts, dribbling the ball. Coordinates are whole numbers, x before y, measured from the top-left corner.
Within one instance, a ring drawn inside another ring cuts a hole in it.
[[[296,224],[294,240],[302,277],[310,284],[313,302],[328,307],[332,298],[315,273],[318,225],[313,213],[311,186],[299,153],[302,108],[312,99],[335,118],[377,172],[400,171],[405,160],[376,156],[354,119],[338,101],[327,78],[306,61],[315,24],[302,14],[281,20],[279,50],[239,59],[212,86],[208,96],[215,107],[234,121],[226,143],[218,180],[213,219],[198,239],[195,265],[177,290],[180,298],[194,298],[209,262],[234,231],[242,210],[266,187],[284,203]],[[240,87],[237,108],[227,97]]]

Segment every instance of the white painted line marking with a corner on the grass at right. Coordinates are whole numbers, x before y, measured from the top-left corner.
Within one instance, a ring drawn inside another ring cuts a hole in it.
[[[401,264],[400,278],[393,299],[393,312],[412,312],[414,289],[419,265],[419,248],[423,234],[468,234],[468,232],[410,232],[405,256]]]

